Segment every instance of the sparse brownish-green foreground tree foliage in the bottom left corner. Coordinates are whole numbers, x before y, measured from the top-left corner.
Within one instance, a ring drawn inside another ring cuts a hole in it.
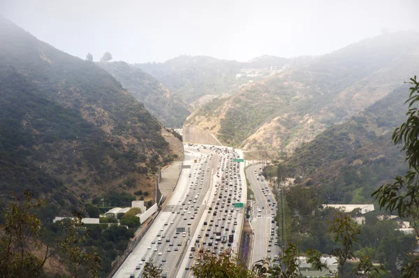
[[[0,226],[1,277],[39,277],[46,261],[59,253],[64,254],[71,266],[72,277],[78,277],[80,270],[85,270],[83,277],[88,273],[98,277],[101,268],[98,254],[84,251],[78,244],[88,237],[88,233],[78,233],[82,226],[80,214],[61,223],[64,236],[52,244],[43,239],[44,227],[35,213],[43,205],[45,200],[33,200],[33,194],[25,191],[24,200],[15,198],[4,210],[5,224]]]

